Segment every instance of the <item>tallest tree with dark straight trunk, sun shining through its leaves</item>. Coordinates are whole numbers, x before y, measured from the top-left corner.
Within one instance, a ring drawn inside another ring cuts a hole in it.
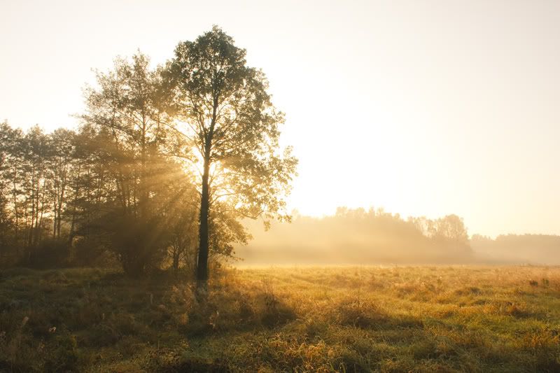
[[[297,160],[290,148],[280,151],[283,114],[271,103],[265,75],[246,66],[246,51],[220,28],[179,43],[164,77],[176,132],[202,168],[197,288],[205,293],[214,206],[235,218],[289,218],[284,197]]]

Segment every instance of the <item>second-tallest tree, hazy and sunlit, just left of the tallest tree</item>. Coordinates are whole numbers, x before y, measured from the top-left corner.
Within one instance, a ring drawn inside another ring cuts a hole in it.
[[[160,146],[165,142],[163,114],[158,109],[159,78],[149,69],[146,55],[138,53],[132,61],[116,59],[113,70],[98,73],[99,88],[86,91],[87,114],[82,117],[109,140],[102,148],[109,159],[106,169],[116,185],[118,206],[111,216],[120,222],[112,227],[122,228],[113,237],[125,271],[134,275],[144,272],[155,253],[155,242],[160,243],[160,239],[139,238],[158,223],[152,200],[160,179]]]

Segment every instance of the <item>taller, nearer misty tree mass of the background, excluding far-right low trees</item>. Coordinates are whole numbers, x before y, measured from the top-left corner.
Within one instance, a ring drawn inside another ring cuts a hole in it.
[[[475,260],[463,220],[402,219],[382,209],[339,208],[334,216],[296,215],[290,224],[261,232],[237,253],[241,265],[371,265],[464,263]]]

